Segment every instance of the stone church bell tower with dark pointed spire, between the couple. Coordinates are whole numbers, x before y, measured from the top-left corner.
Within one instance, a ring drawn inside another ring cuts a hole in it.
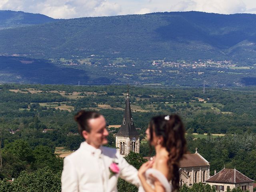
[[[137,132],[132,119],[129,90],[127,91],[124,118],[116,134],[116,148],[122,156],[128,155],[130,151],[140,153],[140,134]]]

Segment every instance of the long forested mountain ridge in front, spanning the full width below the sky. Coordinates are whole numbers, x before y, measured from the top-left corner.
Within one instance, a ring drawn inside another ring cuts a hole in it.
[[[254,64],[255,19],[254,14],[204,12],[76,18],[1,30],[0,54],[233,59]]]

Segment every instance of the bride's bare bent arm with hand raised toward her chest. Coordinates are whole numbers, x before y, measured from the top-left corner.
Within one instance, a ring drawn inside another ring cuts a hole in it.
[[[147,182],[146,182],[146,177],[145,177],[145,172],[148,168],[152,167],[153,161],[149,161],[144,163],[138,172],[138,176],[140,178],[140,182],[142,184],[142,187],[144,189],[145,192],[165,192],[164,187],[162,186],[162,184],[156,180],[154,182],[155,185],[155,189],[153,189]]]

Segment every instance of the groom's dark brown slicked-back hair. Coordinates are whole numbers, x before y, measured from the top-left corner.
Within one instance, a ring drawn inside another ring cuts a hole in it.
[[[91,128],[88,125],[88,120],[98,118],[101,114],[95,111],[84,111],[80,110],[78,113],[74,116],[74,120],[78,124],[78,131],[80,136],[82,136],[82,131],[90,132]]]

